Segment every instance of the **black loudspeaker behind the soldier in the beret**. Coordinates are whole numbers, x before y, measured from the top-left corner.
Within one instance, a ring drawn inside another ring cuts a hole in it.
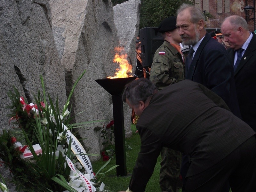
[[[156,27],[140,29],[142,67],[151,67],[156,50],[164,43],[164,38]]]

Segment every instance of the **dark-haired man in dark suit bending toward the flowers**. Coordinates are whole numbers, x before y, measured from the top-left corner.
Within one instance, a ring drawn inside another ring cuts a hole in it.
[[[256,188],[255,132],[202,84],[183,80],[158,92],[139,79],[126,85],[123,100],[140,116],[141,148],[127,191],[145,191],[162,147],[190,156],[185,191],[221,191],[226,180],[232,192]]]

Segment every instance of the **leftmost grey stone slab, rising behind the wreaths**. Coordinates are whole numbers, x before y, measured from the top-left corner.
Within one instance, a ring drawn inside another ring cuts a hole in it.
[[[12,128],[6,106],[10,104],[7,92],[13,85],[30,103],[42,90],[39,76],[43,75],[46,92],[52,100],[58,96],[63,107],[65,73],[52,35],[48,0],[1,0],[0,74],[0,132]],[[9,175],[3,168],[0,172]],[[11,187],[11,191],[15,190]]]

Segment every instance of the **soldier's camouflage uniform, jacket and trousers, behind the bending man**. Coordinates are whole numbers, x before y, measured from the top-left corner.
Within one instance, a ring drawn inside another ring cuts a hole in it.
[[[164,43],[156,50],[150,69],[149,79],[159,90],[162,90],[170,84],[184,80],[182,56],[169,42],[164,41]],[[176,192],[178,187],[182,187],[179,178],[181,153],[170,148],[162,148],[161,156],[161,191]]]

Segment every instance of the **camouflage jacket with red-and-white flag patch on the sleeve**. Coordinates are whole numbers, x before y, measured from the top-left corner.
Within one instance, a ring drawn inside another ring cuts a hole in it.
[[[149,79],[159,90],[184,80],[184,64],[181,54],[169,42],[164,41],[156,50]]]

